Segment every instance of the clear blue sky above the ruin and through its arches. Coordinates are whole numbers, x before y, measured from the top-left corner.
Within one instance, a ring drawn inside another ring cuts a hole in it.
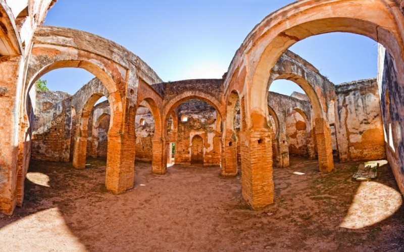
[[[164,81],[221,78],[246,35],[292,0],[58,0],[44,25],[70,27],[111,39],[140,56]],[[331,33],[290,48],[335,84],[377,75],[376,42]],[[75,93],[93,76],[81,69],[52,71],[51,90]],[[277,81],[271,91],[297,85]],[[300,91],[301,92],[301,91]]]

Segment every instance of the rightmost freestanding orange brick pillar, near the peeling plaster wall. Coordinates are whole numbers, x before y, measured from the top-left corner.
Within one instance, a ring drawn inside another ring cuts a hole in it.
[[[332,157],[331,131],[324,118],[316,118],[316,142],[321,172],[330,172],[334,168]]]

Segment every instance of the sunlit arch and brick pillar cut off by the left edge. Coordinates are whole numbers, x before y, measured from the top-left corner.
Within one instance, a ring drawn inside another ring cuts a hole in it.
[[[0,107],[10,118],[0,122],[2,157],[0,157],[0,212],[12,214],[24,198],[24,180],[30,161],[33,117],[31,99],[24,92],[25,73],[30,54],[32,32],[43,22],[54,2],[41,1],[28,8],[21,1],[0,3]],[[24,29],[22,30],[22,27]]]

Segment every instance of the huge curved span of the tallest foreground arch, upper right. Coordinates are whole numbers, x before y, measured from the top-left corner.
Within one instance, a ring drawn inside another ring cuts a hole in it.
[[[337,31],[364,35],[380,42],[393,54],[396,69],[401,71],[402,24],[402,13],[392,0],[299,1],[269,15],[248,34],[233,58],[229,76],[234,75],[235,70],[242,74],[237,79],[245,79],[250,96],[255,97],[250,110],[259,110],[265,104],[262,91],[266,85],[263,83],[268,83],[269,73],[281,54],[299,40]],[[241,68],[245,65],[248,69]],[[226,80],[225,87],[231,85]],[[261,95],[256,96],[258,93]],[[261,127],[252,121],[248,123]]]

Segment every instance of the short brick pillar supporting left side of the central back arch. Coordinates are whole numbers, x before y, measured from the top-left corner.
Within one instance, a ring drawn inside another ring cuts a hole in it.
[[[153,140],[153,160],[151,160],[151,171],[155,174],[165,174],[167,170],[167,159],[169,158],[169,143],[162,140]]]

